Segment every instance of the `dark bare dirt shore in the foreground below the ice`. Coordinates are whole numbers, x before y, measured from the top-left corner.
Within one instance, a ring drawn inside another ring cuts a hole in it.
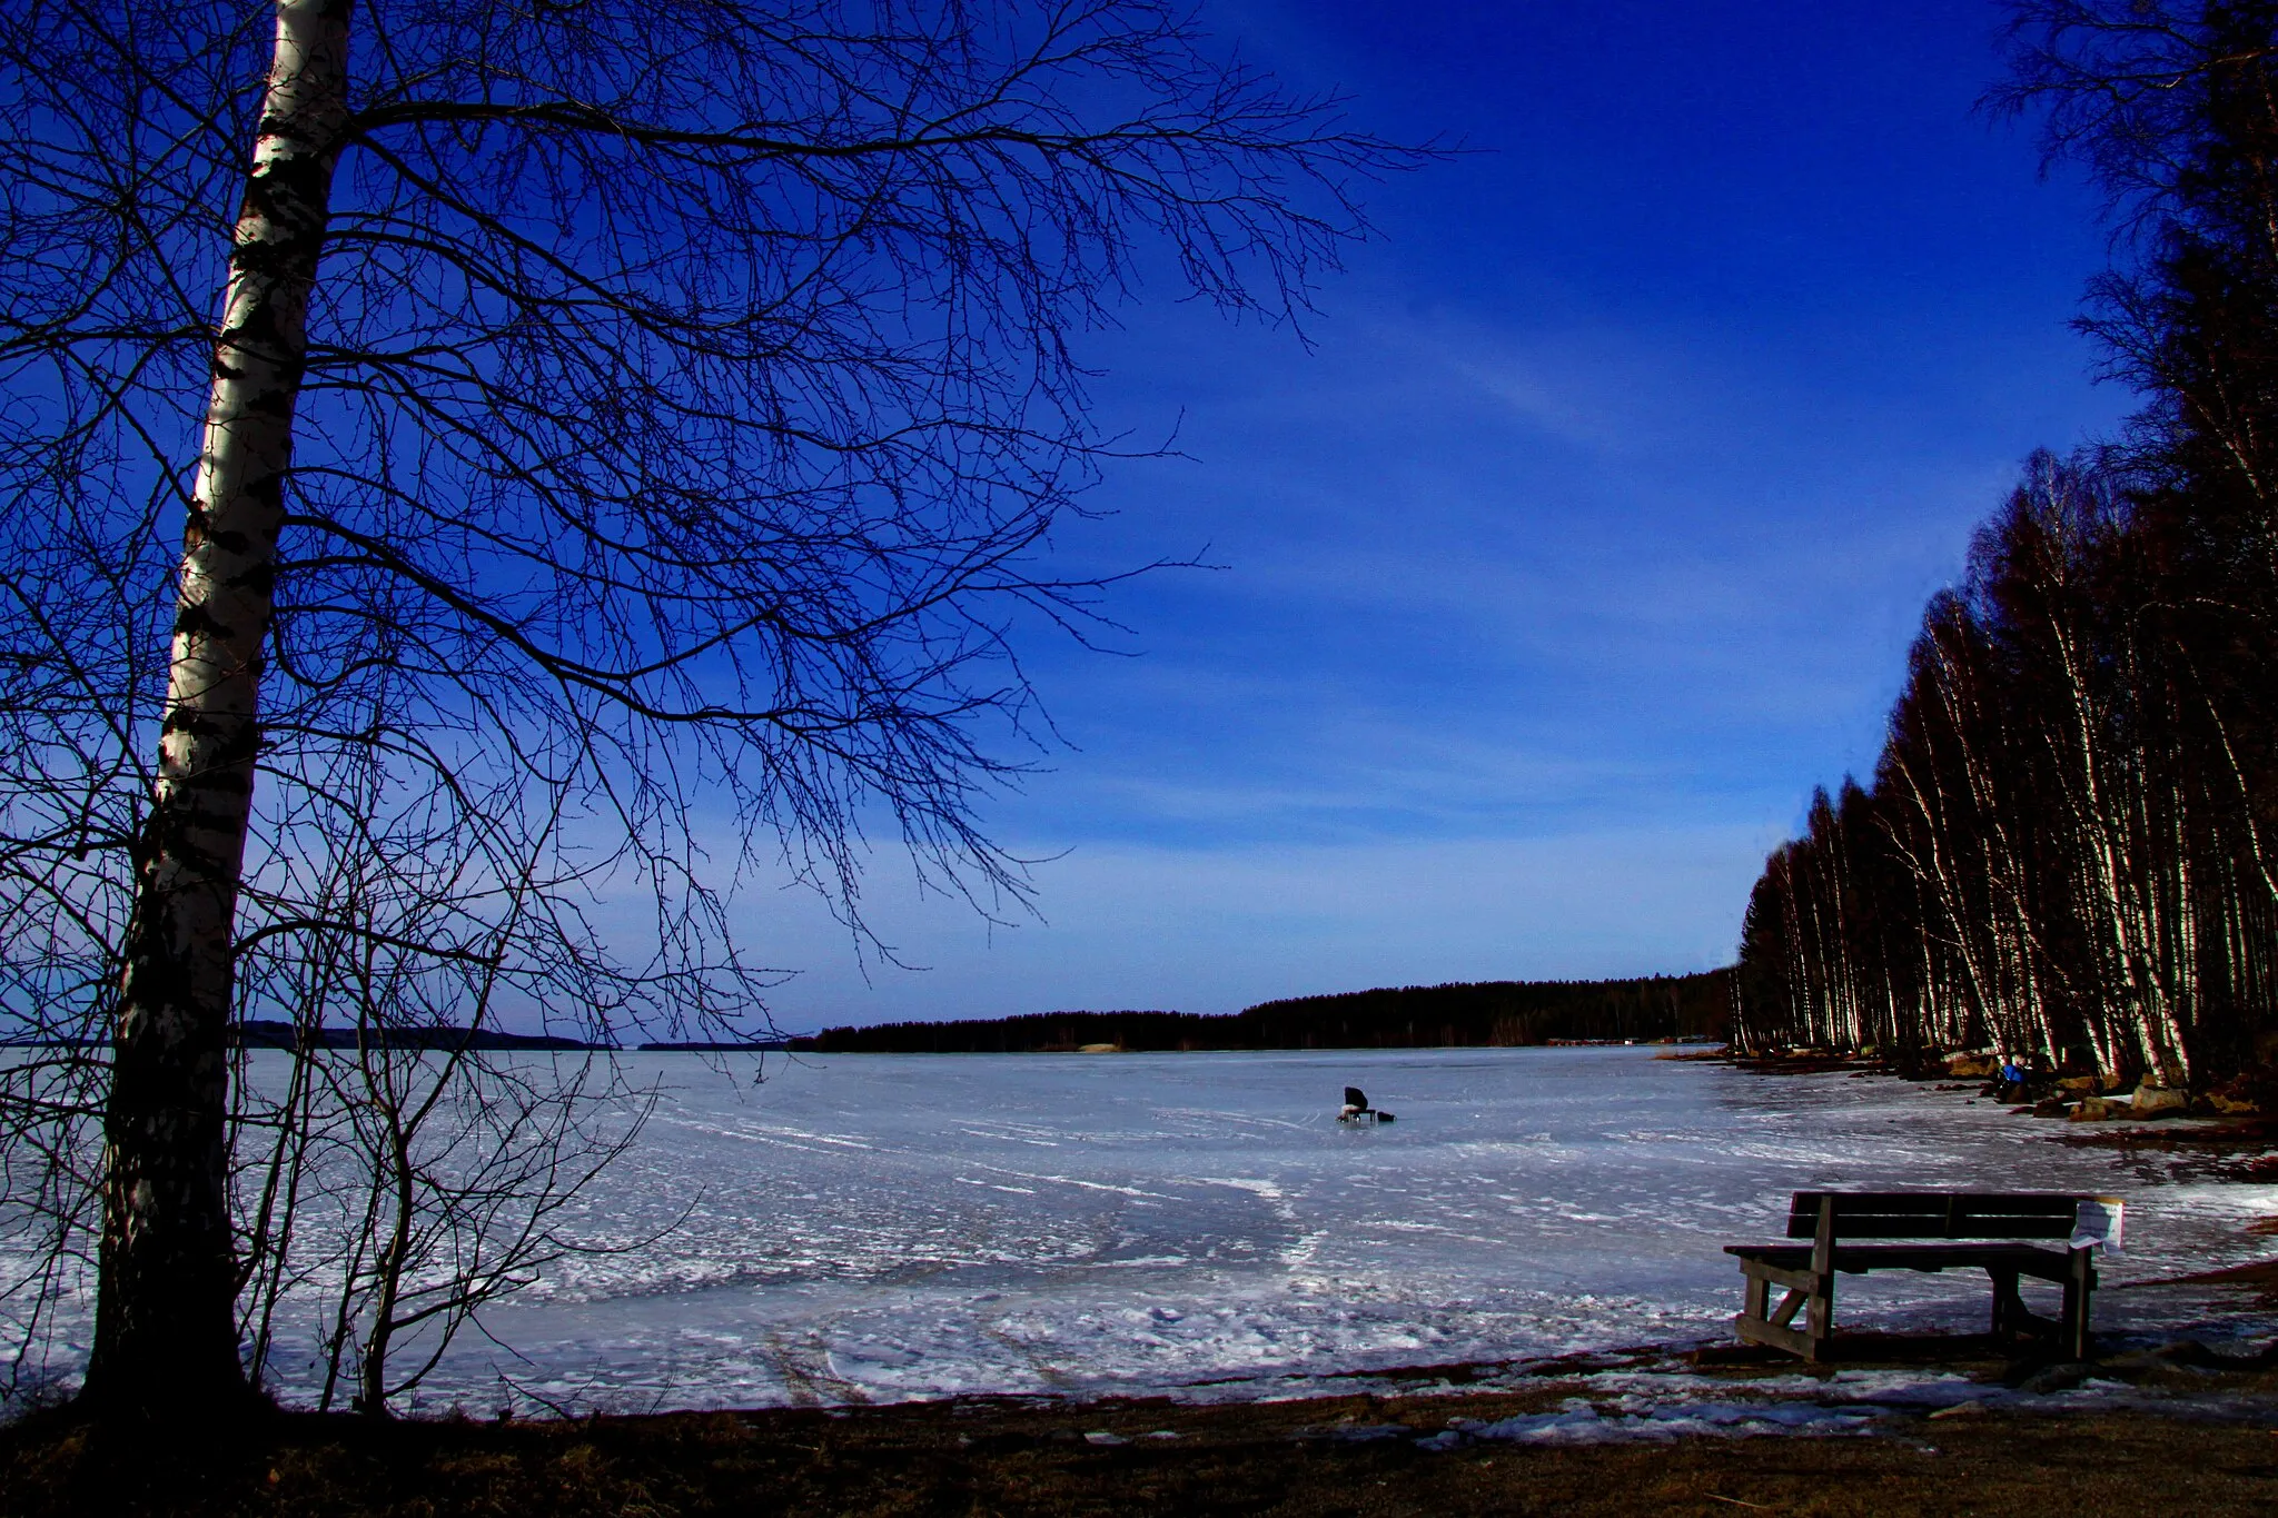
[[[1989,1391],[2005,1370],[2021,1379],[1973,1340],[1866,1350],[1882,1366],[1959,1356]],[[1793,1361],[1706,1359],[1686,1375],[1708,1395],[1763,1397],[1777,1379],[1788,1391],[1770,1400],[1813,1400],[1793,1391]],[[1417,1393],[1228,1406],[966,1400],[558,1422],[271,1413],[116,1429],[62,1411],[0,1429],[0,1513],[2278,1511],[2278,1356],[2171,1347],[2100,1375],[2125,1384],[2125,1406],[2027,1388],[1959,1413],[1882,1409],[1870,1434],[1444,1450],[1419,1438],[1574,1406],[1601,1377],[1547,1366],[1490,1372],[1490,1391],[1428,1372]]]

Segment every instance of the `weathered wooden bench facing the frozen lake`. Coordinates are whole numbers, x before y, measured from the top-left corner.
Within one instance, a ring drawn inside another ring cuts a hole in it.
[[[2119,1215],[2109,1197],[2064,1193],[1970,1190],[1800,1190],[1788,1206],[1788,1238],[1809,1245],[1724,1245],[1740,1259],[1745,1309],[1734,1320],[1743,1340],[1775,1345],[1806,1361],[1825,1356],[1834,1334],[1836,1272],[1868,1270],[1984,1270],[1993,1277],[1993,1334],[2032,1334],[2052,1340],[2066,1359],[2089,1356],[2089,1297],[2096,1290],[2091,1245],[2039,1247],[2025,1238],[2075,1236],[2080,1204],[2096,1202]],[[1941,1243],[1857,1245],[1854,1238]],[[1964,1243],[1966,1240],[1966,1243]],[[2114,1240],[2116,1243],[2116,1240]],[[2025,1311],[2018,1277],[2064,1286],[2057,1322]],[[1772,1288],[1786,1288],[1770,1306]],[[1804,1327],[1795,1327],[1802,1311]]]

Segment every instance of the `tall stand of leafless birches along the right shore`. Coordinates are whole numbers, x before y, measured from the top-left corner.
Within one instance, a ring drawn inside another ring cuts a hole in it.
[[[1747,906],[1745,1047],[2205,1086],[2278,1036],[2278,18],[2030,7],[2007,98],[2109,191],[2080,328],[2144,396],[1932,599],[1873,785]],[[2169,25],[2173,23],[2173,25]]]

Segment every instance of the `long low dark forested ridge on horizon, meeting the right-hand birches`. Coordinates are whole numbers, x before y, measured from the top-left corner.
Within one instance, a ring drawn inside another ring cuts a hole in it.
[[[886,1022],[793,1040],[820,1054],[1146,1049],[1456,1049],[1558,1038],[1722,1038],[1731,972],[1642,981],[1483,981],[1262,1001],[1239,1013],[1034,1013]]]

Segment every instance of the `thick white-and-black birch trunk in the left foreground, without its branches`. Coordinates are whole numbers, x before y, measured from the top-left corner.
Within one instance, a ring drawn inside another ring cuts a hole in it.
[[[232,917],[308,298],[346,123],[349,0],[278,0],[182,530],[159,769],[105,1108],[91,1397],[241,1393],[226,1115]]]

